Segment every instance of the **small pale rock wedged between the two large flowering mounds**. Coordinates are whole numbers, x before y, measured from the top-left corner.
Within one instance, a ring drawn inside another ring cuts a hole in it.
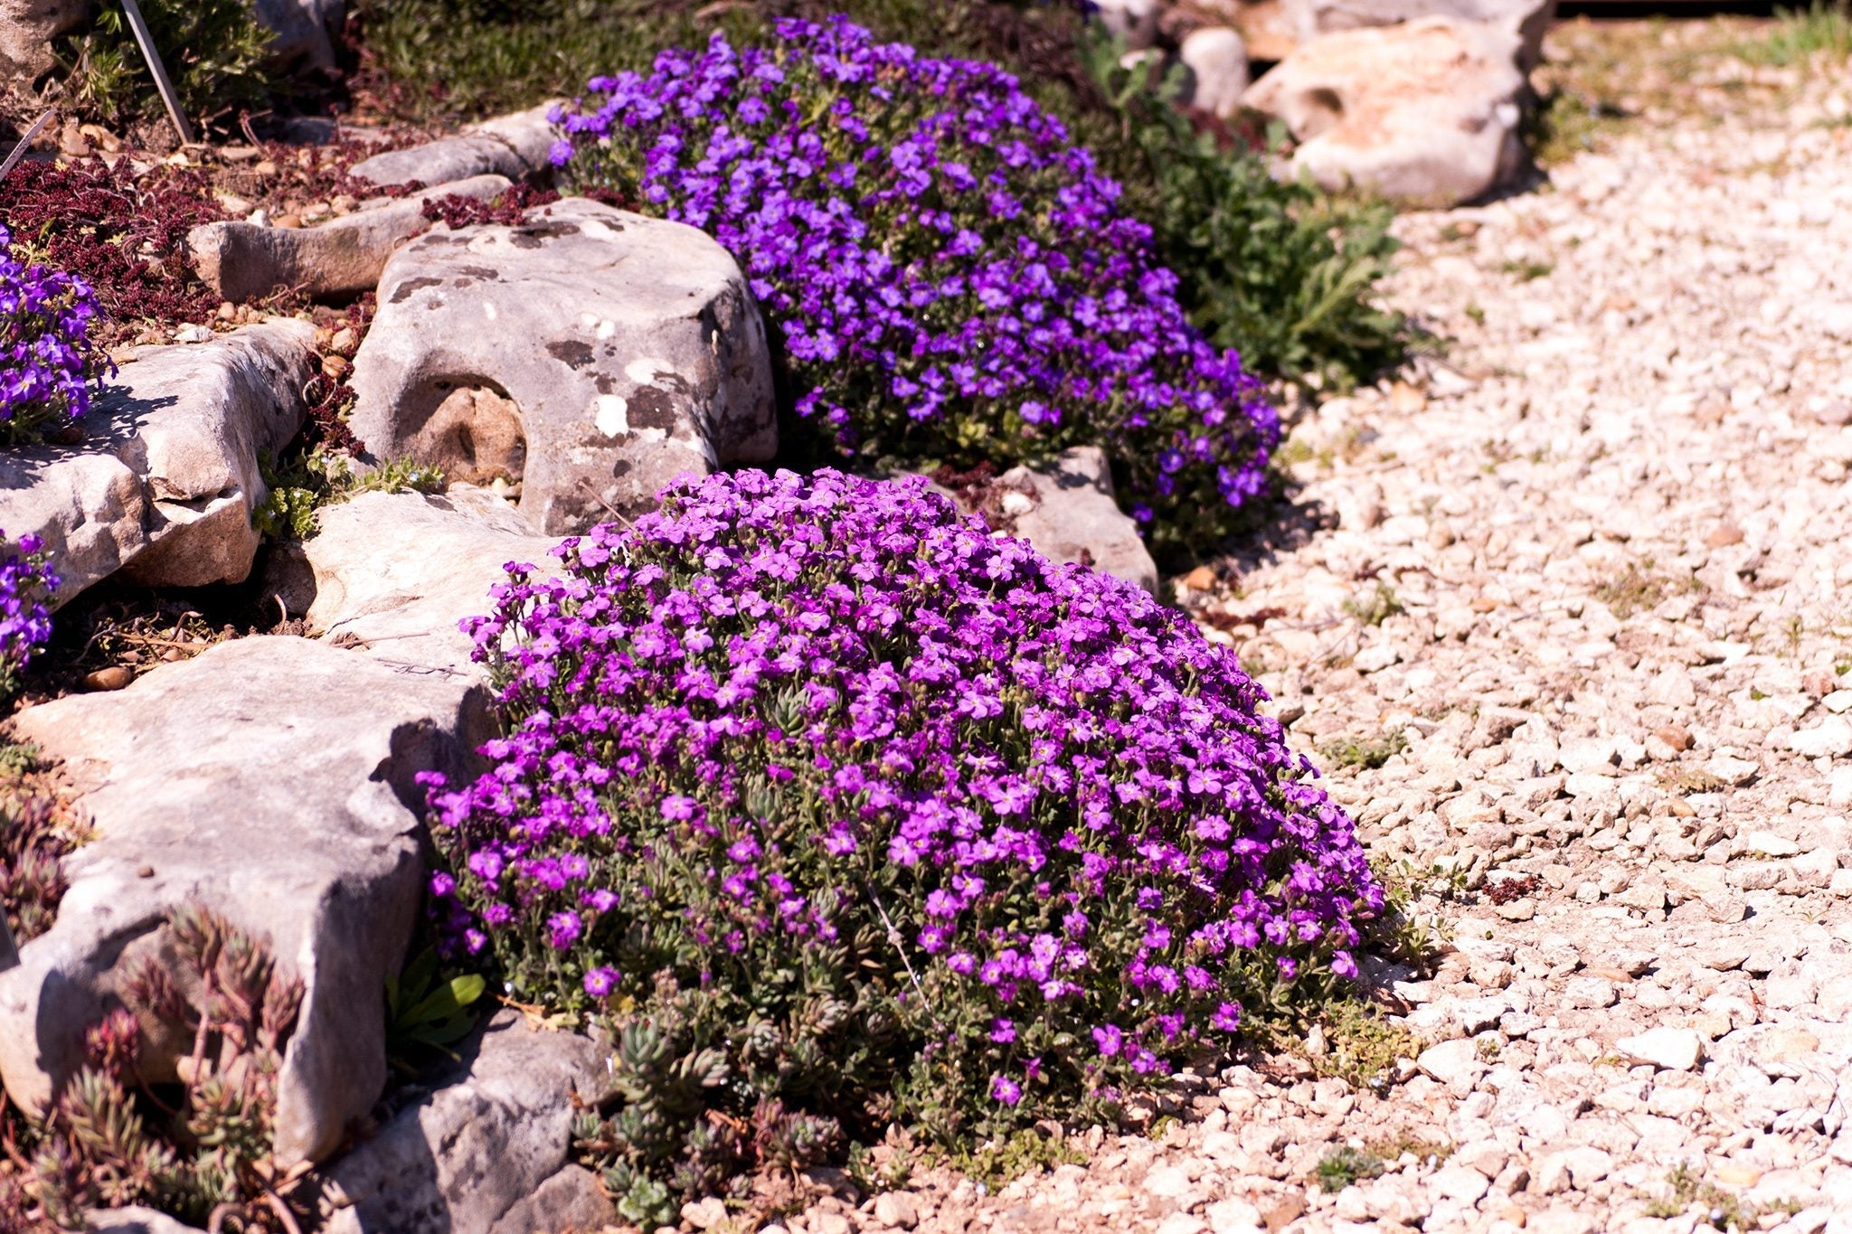
[[[946,496],[970,509],[963,494]],[[1022,537],[1050,561],[1078,561],[1158,594],[1158,564],[1137,524],[1113,500],[1113,470],[1098,446],[1076,446],[1054,463],[1015,466],[978,500],[991,527]]]

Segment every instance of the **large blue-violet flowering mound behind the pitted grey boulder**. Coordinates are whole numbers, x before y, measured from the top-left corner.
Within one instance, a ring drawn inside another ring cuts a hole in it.
[[[870,457],[1098,442],[1159,538],[1206,542],[1280,440],[1176,300],[1119,185],[993,65],[833,19],[669,50],[556,109],[554,161],[715,235],[782,333],[796,411]]]

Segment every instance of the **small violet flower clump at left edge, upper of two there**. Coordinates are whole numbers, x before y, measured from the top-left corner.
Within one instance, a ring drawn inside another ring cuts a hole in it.
[[[26,265],[0,226],[0,440],[81,420],[104,359],[91,342],[96,292],[74,274]]]

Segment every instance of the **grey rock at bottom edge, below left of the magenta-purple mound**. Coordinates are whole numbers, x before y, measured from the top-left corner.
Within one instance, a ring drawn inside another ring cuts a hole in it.
[[[326,1234],[602,1228],[611,1203],[569,1164],[572,1095],[596,1101],[606,1053],[504,1010],[459,1071],[328,1169]]]

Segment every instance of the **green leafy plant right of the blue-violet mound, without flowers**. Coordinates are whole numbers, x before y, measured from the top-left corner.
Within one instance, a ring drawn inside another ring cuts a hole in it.
[[[1182,68],[1126,68],[1124,44],[1089,31],[1087,68],[1106,91],[1119,141],[1098,148],[1126,204],[1156,231],[1191,320],[1259,374],[1350,389],[1400,366],[1417,333],[1372,302],[1398,248],[1393,211],[1276,181],[1261,152],[1176,107]],[[1283,131],[1272,130],[1269,144]]]

